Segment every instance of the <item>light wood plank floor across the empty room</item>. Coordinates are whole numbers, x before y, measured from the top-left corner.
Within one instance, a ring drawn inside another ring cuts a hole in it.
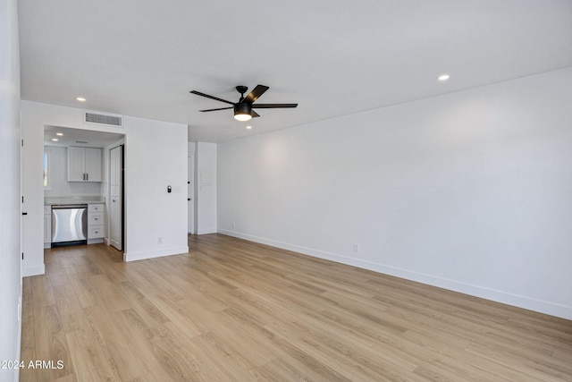
[[[572,321],[220,234],[122,262],[46,250],[24,279],[28,381],[572,381]]]

